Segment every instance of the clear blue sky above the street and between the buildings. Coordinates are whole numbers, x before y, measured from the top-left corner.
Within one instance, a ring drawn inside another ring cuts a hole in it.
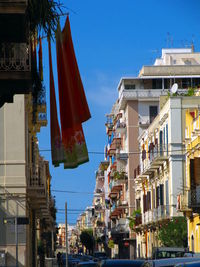
[[[92,204],[95,171],[104,159],[106,143],[105,114],[117,99],[121,77],[137,76],[142,65],[153,64],[162,48],[188,47],[194,42],[200,51],[199,0],[63,0],[64,12],[70,13],[74,48],[92,118],[85,122],[84,133],[90,161],[76,169],[64,170],[51,164],[50,124],[41,129],[39,147],[50,162],[52,191],[58,209],[68,209],[68,222],[75,223],[78,213]],[[63,26],[66,17],[61,18]],[[49,63],[47,44],[43,41],[44,85],[49,119]],[[55,44],[52,46],[54,80],[57,90]],[[57,95],[58,99],[58,95]],[[65,214],[57,214],[64,222]]]

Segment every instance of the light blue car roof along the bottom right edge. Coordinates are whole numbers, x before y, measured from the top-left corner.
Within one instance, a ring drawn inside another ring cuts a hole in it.
[[[187,262],[188,263],[190,263],[190,262],[199,262],[199,258],[196,258],[196,257],[181,257],[181,258],[147,260],[142,265],[142,267],[174,267],[177,264],[180,264],[180,263],[181,264],[185,264]]]

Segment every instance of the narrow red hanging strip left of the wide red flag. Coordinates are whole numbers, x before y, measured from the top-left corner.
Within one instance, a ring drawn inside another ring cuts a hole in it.
[[[50,128],[51,128],[51,155],[55,167],[65,161],[64,149],[61,140],[60,127],[58,124],[54,78],[52,70],[51,42],[49,46],[49,76],[50,76]]]

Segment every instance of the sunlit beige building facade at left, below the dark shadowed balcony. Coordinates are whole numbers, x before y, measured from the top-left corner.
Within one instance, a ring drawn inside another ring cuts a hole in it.
[[[0,248],[5,251],[7,266],[15,264],[16,257],[22,266],[34,266],[38,242],[45,242],[44,233],[47,237],[47,232],[55,231],[49,165],[39,154],[36,137],[46,119],[41,121],[39,112],[33,123],[30,99],[31,96],[16,95],[14,103],[0,109]],[[27,224],[16,226],[16,230],[11,222],[14,218],[24,218]]]

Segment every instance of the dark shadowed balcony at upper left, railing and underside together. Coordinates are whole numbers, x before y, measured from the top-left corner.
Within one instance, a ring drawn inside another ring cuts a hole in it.
[[[13,102],[14,94],[30,92],[31,58],[28,44],[0,44],[0,87],[1,102],[3,99]]]

